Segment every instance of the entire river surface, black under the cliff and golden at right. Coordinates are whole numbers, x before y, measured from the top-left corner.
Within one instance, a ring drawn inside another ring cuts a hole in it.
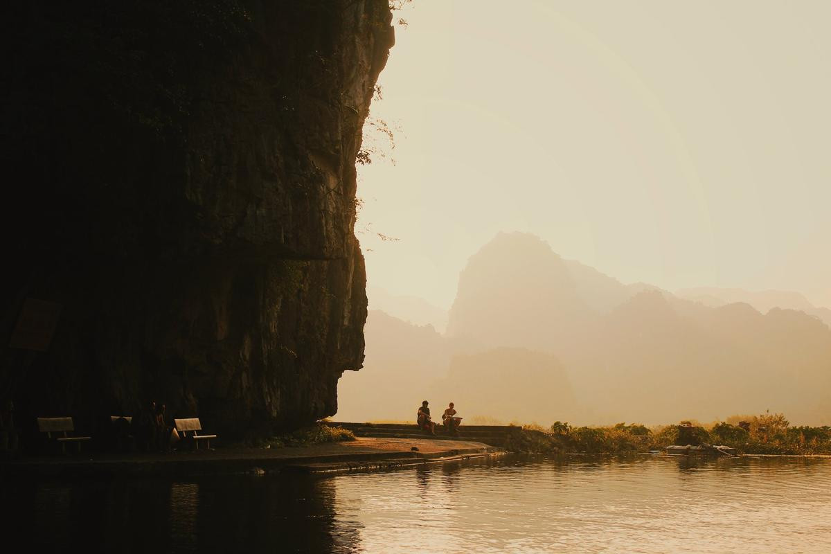
[[[13,507],[9,529],[56,552],[831,552],[831,459],[504,458],[328,478],[3,479],[0,497]]]

